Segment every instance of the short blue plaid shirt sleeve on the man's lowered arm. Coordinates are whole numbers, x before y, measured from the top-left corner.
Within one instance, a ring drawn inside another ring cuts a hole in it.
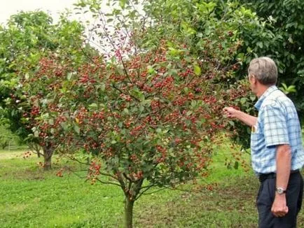
[[[286,114],[282,107],[275,104],[264,106],[262,118],[267,147],[289,144]]]

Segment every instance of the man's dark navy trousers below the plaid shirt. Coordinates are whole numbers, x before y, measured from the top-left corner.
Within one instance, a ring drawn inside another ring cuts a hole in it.
[[[261,186],[258,190],[256,206],[258,208],[259,228],[294,228],[296,218],[302,206],[303,178],[300,172],[291,173],[286,191],[286,204],[289,212],[281,218],[271,213],[272,203],[275,200],[275,174],[260,178]]]

